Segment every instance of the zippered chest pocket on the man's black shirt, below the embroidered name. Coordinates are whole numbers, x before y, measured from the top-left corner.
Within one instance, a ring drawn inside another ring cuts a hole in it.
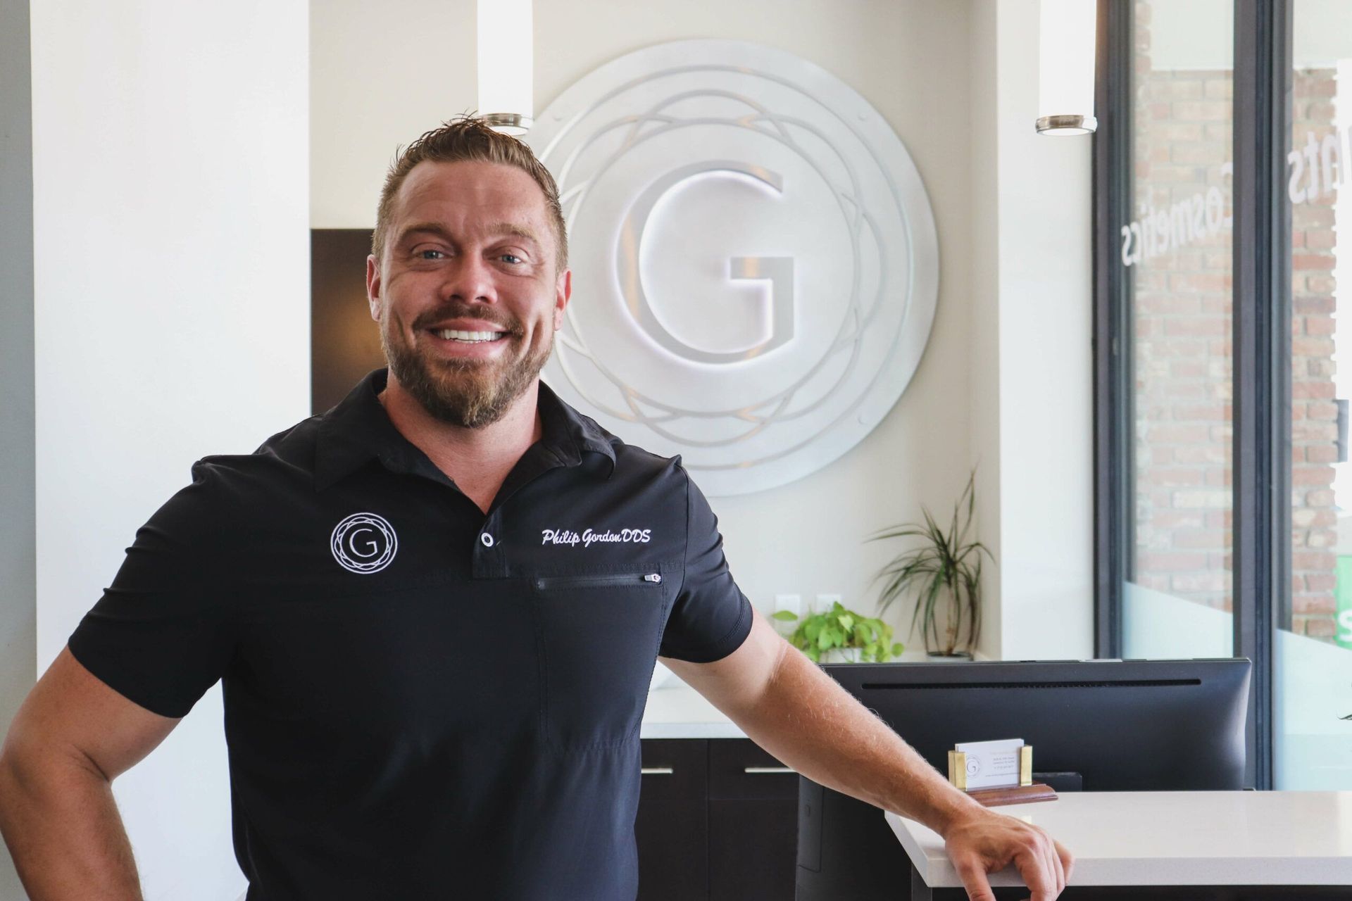
[[[537,575],[531,615],[544,728],[558,750],[618,744],[642,721],[671,605],[668,567]]]

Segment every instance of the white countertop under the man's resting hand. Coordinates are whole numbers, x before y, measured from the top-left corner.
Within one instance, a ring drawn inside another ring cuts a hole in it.
[[[1075,855],[1071,885],[1352,885],[1352,792],[1068,792],[996,808]],[[961,887],[944,840],[888,812],[933,889]],[[1013,867],[992,886],[1021,886]]]

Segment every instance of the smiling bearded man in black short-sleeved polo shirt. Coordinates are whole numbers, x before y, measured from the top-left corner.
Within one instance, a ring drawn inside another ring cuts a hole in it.
[[[199,461],[9,729],[0,831],[32,901],[139,897],[110,783],[216,679],[250,901],[630,901],[657,655],[799,773],[936,828],[972,898],[1011,860],[1060,893],[1064,848],[754,615],[679,458],[539,381],[566,253],[521,142],[465,118],[400,155],[366,262],[388,371]]]

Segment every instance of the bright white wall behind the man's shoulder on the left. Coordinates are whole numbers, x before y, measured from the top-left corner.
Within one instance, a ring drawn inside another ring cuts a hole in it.
[[[37,648],[192,462],[308,415],[307,7],[32,4]],[[235,898],[219,686],[114,783],[146,898]]]

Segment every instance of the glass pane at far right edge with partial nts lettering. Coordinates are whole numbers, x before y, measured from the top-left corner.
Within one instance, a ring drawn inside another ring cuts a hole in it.
[[[1275,782],[1352,789],[1352,467],[1348,281],[1352,192],[1341,189],[1352,126],[1352,4],[1293,5],[1291,598],[1279,605]]]

